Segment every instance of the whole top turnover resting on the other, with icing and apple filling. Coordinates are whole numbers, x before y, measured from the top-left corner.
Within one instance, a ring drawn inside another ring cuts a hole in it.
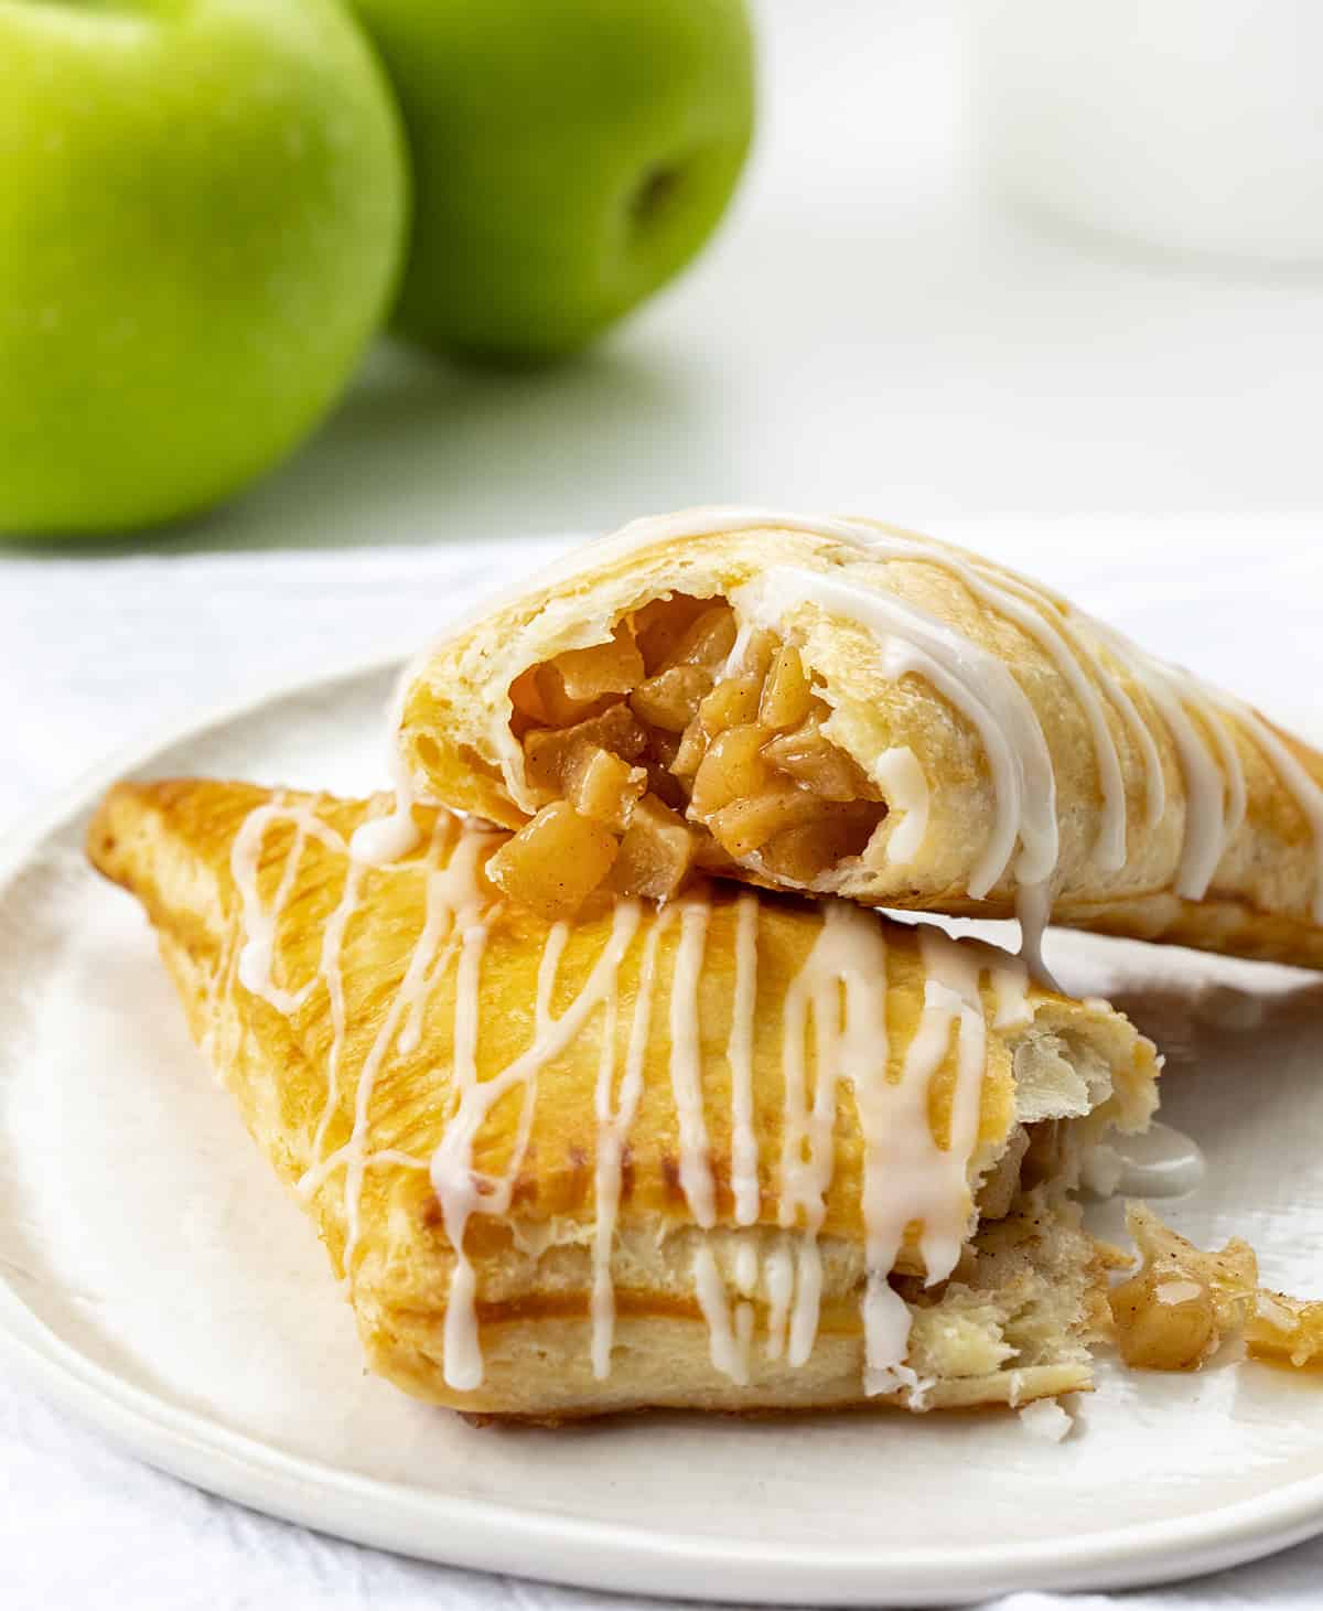
[[[1018,915],[1030,950],[1051,912],[1323,967],[1323,757],[1055,593],[869,520],[635,522],[424,654],[396,719],[400,797],[532,820],[496,876],[546,910],[537,844],[577,843],[582,886],[670,896],[706,868]]]

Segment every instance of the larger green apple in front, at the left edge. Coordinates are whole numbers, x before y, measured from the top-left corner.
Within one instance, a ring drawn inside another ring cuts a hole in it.
[[[206,507],[398,284],[404,137],[335,0],[0,0],[0,532]]]

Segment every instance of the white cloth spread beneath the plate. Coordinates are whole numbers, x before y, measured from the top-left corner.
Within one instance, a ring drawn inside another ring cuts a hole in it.
[[[1155,644],[1271,704],[1317,688],[1318,522],[944,522],[965,540],[1078,591],[1143,635],[1146,599],[1197,599],[1178,644]],[[1262,593],[1271,545],[1271,601]],[[401,656],[445,615],[462,574],[509,582],[554,541],[340,554],[61,559],[0,556],[0,825],[35,809],[106,752],[161,723],[301,672]],[[1196,569],[1191,557],[1201,556]],[[1138,580],[1136,580],[1138,578]],[[1268,607],[1270,606],[1270,607]],[[1257,620],[1257,632],[1247,625]],[[1234,667],[1228,654],[1234,651]],[[1297,681],[1299,678],[1299,681]],[[1288,699],[1289,702],[1289,699]],[[1299,698],[1296,701],[1299,706]],[[161,1476],[0,1365],[0,1605],[63,1611],[111,1603],[161,1611],[280,1605],[287,1611],[527,1611],[657,1605],[450,1571],[324,1539]],[[1312,1608],[1323,1540],[1180,1587],[1128,1595],[1020,1593],[999,1611]],[[661,1587],[661,1585],[659,1585]]]

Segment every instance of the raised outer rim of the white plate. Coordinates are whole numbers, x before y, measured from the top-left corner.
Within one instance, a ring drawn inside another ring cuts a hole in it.
[[[121,748],[0,844],[0,904],[48,843],[85,818],[116,778],[247,715],[406,664],[398,652],[319,665],[219,701]],[[0,1271],[0,1355],[53,1403],[147,1464],[280,1521],[355,1543],[471,1571],[738,1603],[951,1605],[1012,1590],[1123,1588],[1242,1564],[1323,1532],[1320,1469],[1265,1493],[1189,1516],[1110,1527],[1085,1539],[1017,1540],[970,1550],[840,1550],[651,1530],[561,1511],[419,1490],[292,1455],[209,1414],[137,1387],[47,1326]],[[425,1529],[422,1524],[427,1524]],[[659,1587],[657,1569],[669,1580]]]

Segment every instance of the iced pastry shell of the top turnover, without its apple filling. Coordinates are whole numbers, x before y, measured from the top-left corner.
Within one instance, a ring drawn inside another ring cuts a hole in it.
[[[822,735],[885,802],[862,852],[799,888],[1010,917],[1031,886],[1059,923],[1323,967],[1318,752],[1049,590],[867,520],[699,509],[580,549],[413,667],[419,797],[532,817],[511,685],[669,596],[794,644]],[[759,855],[719,870],[793,883]]]

